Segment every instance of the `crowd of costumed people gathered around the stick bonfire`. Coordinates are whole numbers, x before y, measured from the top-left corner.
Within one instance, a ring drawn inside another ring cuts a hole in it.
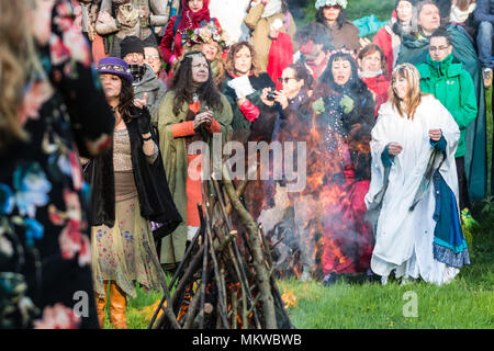
[[[242,197],[280,276],[440,285],[470,264],[493,0],[397,0],[373,37],[347,4],[297,25],[287,0],[0,0],[0,328],[102,328],[106,305],[127,328],[200,228],[192,146],[215,138],[306,145],[302,191],[257,177]]]

